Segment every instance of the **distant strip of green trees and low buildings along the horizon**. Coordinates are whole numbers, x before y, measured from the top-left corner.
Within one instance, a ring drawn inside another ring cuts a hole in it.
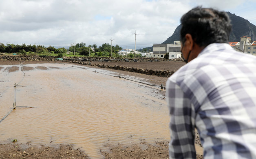
[[[256,55],[256,41],[251,41],[251,37],[241,37],[239,42],[230,42],[230,46],[238,52]],[[52,46],[44,47],[42,45],[4,45],[0,43],[1,54],[22,54],[22,55],[49,55],[49,56],[97,56],[97,57],[129,57],[129,58],[181,58],[181,42],[174,41],[166,44],[153,44],[153,50],[142,49],[135,51],[131,48],[122,48],[119,45],[112,46],[104,43],[97,47],[96,44],[88,45],[77,43],[71,45],[68,49],[65,47],[55,48]]]

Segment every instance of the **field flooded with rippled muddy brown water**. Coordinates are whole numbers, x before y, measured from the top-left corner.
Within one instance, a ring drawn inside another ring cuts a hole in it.
[[[0,66],[0,119],[15,101],[35,106],[0,122],[0,143],[74,144],[97,159],[106,144],[169,140],[165,92],[118,76],[74,64]]]

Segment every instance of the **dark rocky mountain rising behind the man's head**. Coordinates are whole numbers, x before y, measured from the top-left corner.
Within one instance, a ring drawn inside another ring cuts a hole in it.
[[[230,34],[230,42],[239,42],[240,37],[248,36],[251,37],[251,41],[256,41],[256,26],[252,23],[250,23],[248,20],[239,17],[235,14],[232,14],[230,12],[226,12],[231,19],[232,23],[232,31]],[[164,43],[173,43],[173,41],[179,41],[180,40],[180,32],[181,25],[179,25],[171,37],[166,39]]]

